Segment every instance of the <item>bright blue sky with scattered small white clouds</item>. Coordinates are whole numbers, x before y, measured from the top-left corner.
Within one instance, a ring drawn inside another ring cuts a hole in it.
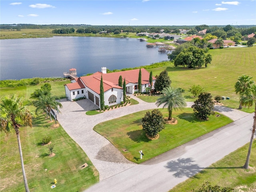
[[[1,0],[0,12],[0,24],[256,24],[256,0]]]

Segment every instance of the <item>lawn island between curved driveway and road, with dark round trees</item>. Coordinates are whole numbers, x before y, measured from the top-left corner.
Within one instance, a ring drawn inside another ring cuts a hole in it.
[[[160,111],[164,117],[168,116],[167,110]],[[146,111],[141,111],[102,122],[96,125],[94,130],[107,138],[128,160],[141,163],[232,122],[223,115],[210,116],[208,121],[201,122],[194,117],[192,108],[185,108],[182,112],[173,112],[178,124],[166,124],[157,140],[149,140],[141,124],[145,114]],[[139,159],[139,150],[143,150],[145,154],[142,160]]]

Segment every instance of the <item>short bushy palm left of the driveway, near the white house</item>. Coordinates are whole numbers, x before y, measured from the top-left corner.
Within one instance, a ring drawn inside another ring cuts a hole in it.
[[[58,110],[58,107],[62,108],[62,104],[56,101],[57,97],[52,96],[51,94],[42,94],[38,97],[36,101],[33,102],[33,105],[36,107],[36,114],[40,110],[46,110],[46,116],[48,117],[48,113],[50,116],[50,120],[52,121],[52,116],[50,114],[52,109]]]

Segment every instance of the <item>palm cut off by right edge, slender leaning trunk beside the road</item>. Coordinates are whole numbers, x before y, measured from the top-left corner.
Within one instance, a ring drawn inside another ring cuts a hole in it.
[[[255,128],[256,128],[256,84],[253,84],[251,86],[251,88],[248,89],[248,91],[246,92],[246,95],[242,97],[242,103],[248,107],[254,106],[254,121],[252,124],[252,136],[251,136],[251,140],[250,140],[250,145],[249,145],[249,149],[248,149],[248,154],[247,154],[247,158],[246,158],[246,162],[244,164],[244,168],[248,169],[249,168],[249,159],[250,159],[250,154],[251,154],[251,149],[252,149],[252,142],[253,142],[253,138],[254,138],[254,133],[255,133]]]

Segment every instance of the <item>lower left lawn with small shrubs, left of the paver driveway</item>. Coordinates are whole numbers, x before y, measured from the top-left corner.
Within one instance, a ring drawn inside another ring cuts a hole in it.
[[[68,136],[61,126],[55,127],[44,115],[33,120],[32,128],[20,128],[22,152],[31,192],[50,191],[56,178],[54,191],[83,191],[99,181],[99,174],[84,151]],[[48,148],[41,145],[43,136],[52,136],[54,157],[48,156]],[[0,190],[24,192],[24,182],[15,132],[0,133]],[[80,169],[84,163],[88,167]],[[47,171],[45,171],[47,169]]]

